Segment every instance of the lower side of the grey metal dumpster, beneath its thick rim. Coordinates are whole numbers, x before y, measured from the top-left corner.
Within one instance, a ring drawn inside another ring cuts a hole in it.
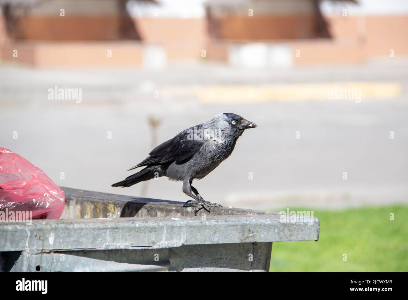
[[[272,243],[138,250],[53,251],[20,256],[11,271],[266,271]]]

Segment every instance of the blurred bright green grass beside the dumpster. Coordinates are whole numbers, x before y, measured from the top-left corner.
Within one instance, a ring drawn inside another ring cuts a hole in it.
[[[408,206],[318,210],[314,216],[319,241],[273,243],[272,272],[408,271]]]

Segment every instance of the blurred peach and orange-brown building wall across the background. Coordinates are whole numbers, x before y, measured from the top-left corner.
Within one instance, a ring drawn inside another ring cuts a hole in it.
[[[202,49],[208,60],[227,62],[229,47],[237,42],[289,44],[293,51],[301,50],[301,56],[293,59],[295,65],[358,63],[388,57],[391,49],[396,57],[408,55],[408,16],[325,17],[333,39],[307,38],[314,22],[310,16],[257,18],[225,19],[220,31],[224,38],[217,39],[209,37],[205,18],[137,18],[133,22],[141,40],[129,44],[114,42],[120,26],[115,16],[34,15],[18,26],[24,39],[17,43],[8,41],[0,23],[0,58],[13,60],[12,51],[18,49],[20,62],[36,66],[140,66],[146,43],[162,45],[168,62],[198,61]],[[37,45],[39,41],[45,42]],[[111,48],[115,55],[107,60],[106,49]]]

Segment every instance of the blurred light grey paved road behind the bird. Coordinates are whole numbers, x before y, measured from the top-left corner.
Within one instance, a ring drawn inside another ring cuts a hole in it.
[[[406,61],[392,61],[288,70],[177,66],[153,72],[37,70],[3,64],[0,146],[24,156],[61,186],[138,196],[139,184],[127,189],[110,184],[130,175],[126,170],[151,150],[149,116],[161,121],[161,142],[216,113],[233,112],[259,127],[245,132],[233,155],[194,184],[206,200],[272,210],[407,203],[407,67]],[[361,103],[248,98],[236,104],[203,102],[184,91],[309,82],[388,82],[400,90],[390,98],[363,98]],[[55,85],[81,88],[82,102],[49,100],[48,89]],[[184,90],[174,93],[171,87]],[[297,131],[300,139],[295,138]],[[147,196],[188,199],[180,182],[166,178],[151,180]]]

